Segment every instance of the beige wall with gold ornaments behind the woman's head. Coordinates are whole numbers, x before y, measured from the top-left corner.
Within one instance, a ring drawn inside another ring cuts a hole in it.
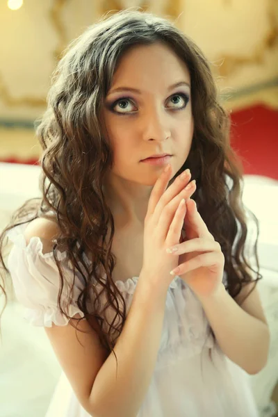
[[[106,10],[149,4],[171,15],[213,65],[222,92],[278,79],[276,0],[28,0],[19,10],[0,2],[0,119],[33,120],[44,111],[56,57]],[[227,106],[261,99],[278,106],[278,88],[246,94]],[[0,137],[1,140],[1,137]]]

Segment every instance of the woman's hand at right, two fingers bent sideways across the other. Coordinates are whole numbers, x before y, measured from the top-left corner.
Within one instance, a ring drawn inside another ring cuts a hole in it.
[[[171,273],[179,275],[197,297],[210,297],[222,284],[224,255],[192,199],[186,202],[184,226],[186,239],[181,239],[181,243],[174,246],[177,252],[169,255],[179,256],[179,266]]]

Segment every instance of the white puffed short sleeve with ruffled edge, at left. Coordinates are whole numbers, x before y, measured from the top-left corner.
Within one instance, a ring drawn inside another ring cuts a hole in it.
[[[20,224],[8,231],[8,238],[13,247],[8,256],[7,266],[13,281],[15,296],[20,304],[25,307],[24,318],[35,326],[52,327],[65,326],[69,319],[60,311],[58,305],[58,292],[60,288],[60,275],[52,252],[43,254],[42,241],[33,236],[28,245],[24,238],[24,230],[28,224]],[[73,283],[73,272],[68,268],[65,252],[57,252],[58,260],[63,261],[65,272],[63,292],[60,302],[65,309],[70,298],[70,289]],[[82,291],[81,280],[75,277],[72,293],[72,304],[68,307],[68,315],[73,317],[83,312],[76,304]]]

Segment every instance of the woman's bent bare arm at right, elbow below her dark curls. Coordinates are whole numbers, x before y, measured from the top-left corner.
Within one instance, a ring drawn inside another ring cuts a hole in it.
[[[224,354],[250,375],[259,373],[268,361],[270,332],[257,289],[245,300],[246,311],[223,284],[212,297],[199,300]]]

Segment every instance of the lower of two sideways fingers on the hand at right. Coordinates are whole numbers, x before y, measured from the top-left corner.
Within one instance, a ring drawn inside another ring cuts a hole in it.
[[[172,270],[173,274],[185,274],[186,272],[193,271],[197,268],[201,268],[202,266],[213,266],[218,265],[219,267],[223,267],[224,265],[224,255],[222,252],[208,252],[206,254],[201,254],[195,256],[195,258],[186,261],[185,263],[181,263],[177,268]]]

